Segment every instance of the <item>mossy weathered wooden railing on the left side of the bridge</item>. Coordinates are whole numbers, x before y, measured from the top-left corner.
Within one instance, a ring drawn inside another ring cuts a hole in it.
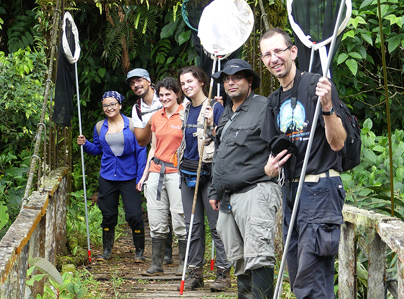
[[[39,191],[0,241],[0,298],[25,298],[28,257],[42,257],[55,264],[66,248],[66,176],[68,168],[53,170]],[[33,294],[43,293],[43,282]]]

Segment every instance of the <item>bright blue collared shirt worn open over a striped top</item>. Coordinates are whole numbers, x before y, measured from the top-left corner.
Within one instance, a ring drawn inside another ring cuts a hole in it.
[[[101,157],[101,169],[99,175],[111,181],[126,181],[136,178],[136,183],[143,175],[146,166],[146,147],[141,147],[136,137],[129,128],[129,119],[121,114],[124,120],[123,134],[125,137],[123,154],[115,157],[105,140],[108,132],[108,118],[105,119],[99,131],[99,136],[94,126],[92,143],[85,141],[84,152]]]

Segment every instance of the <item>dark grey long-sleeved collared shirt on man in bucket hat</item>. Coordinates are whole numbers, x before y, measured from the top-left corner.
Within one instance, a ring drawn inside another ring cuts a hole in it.
[[[231,193],[271,180],[264,171],[270,154],[268,142],[260,138],[266,106],[267,98],[251,91],[237,108],[236,113],[239,111],[239,114],[224,133],[224,126],[234,114],[232,102],[222,114],[216,129],[212,171],[222,212],[228,213],[231,209],[228,201]]]

